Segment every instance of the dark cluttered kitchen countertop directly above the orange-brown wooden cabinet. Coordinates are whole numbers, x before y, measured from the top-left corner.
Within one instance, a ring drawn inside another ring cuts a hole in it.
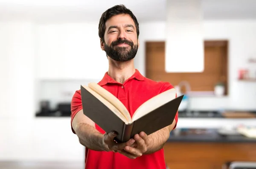
[[[167,142],[256,143],[256,138],[237,134],[220,135],[217,129],[185,129],[179,133],[172,131]]]

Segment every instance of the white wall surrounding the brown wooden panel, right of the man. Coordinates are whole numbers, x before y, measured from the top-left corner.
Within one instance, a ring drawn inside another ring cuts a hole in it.
[[[205,40],[229,40],[229,96],[193,97],[192,109],[256,109],[256,82],[237,80],[240,68],[250,68],[256,74],[256,64],[248,64],[256,57],[256,21],[222,20],[204,22]],[[140,23],[140,50],[136,66],[145,75],[145,42],[164,41],[165,23]],[[181,65],[182,66],[182,65]]]

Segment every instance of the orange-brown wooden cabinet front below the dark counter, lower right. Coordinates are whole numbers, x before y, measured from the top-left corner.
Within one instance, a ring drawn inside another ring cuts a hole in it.
[[[256,142],[167,142],[170,169],[221,169],[229,161],[256,161]]]

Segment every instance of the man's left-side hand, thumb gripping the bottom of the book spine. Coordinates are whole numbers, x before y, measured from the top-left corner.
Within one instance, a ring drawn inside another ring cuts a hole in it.
[[[114,137],[116,137],[116,132],[105,133],[103,135],[102,146],[105,151],[117,152],[118,150],[124,149],[125,146],[131,146],[135,142],[134,139],[130,139],[125,143],[116,143]]]

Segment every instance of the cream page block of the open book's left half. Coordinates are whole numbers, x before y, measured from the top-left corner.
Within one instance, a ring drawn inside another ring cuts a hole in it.
[[[105,106],[107,106],[117,117],[119,117],[125,124],[129,124],[130,122],[122,115],[121,112],[119,112],[118,109],[116,109],[115,106],[113,106],[111,103],[109,103],[107,100],[105,100],[101,95],[94,92],[92,89],[90,89],[87,86],[82,86],[84,89],[86,89],[88,92],[90,92],[94,97],[96,97],[98,100],[100,100]]]

